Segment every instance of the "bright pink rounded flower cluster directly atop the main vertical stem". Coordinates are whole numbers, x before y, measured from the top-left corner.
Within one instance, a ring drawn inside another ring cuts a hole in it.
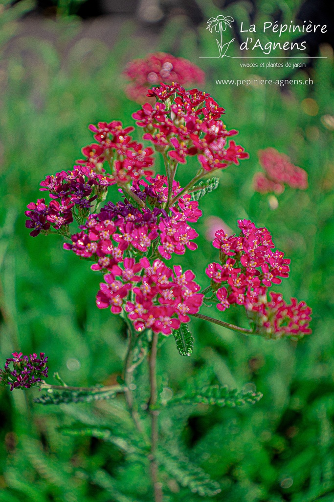
[[[137,331],[150,328],[169,335],[181,322],[189,322],[189,314],[202,305],[203,295],[194,278],[191,270],[182,273],[175,266],[173,272],[159,259],[151,263],[146,257],[139,262],[126,258],[122,267],[116,265],[104,276],[97,306],[111,306],[114,314],[125,310]]]

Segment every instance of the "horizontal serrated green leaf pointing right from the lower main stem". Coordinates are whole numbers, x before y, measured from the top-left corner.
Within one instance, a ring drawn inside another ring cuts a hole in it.
[[[181,403],[192,405],[204,403],[234,408],[235,406],[243,406],[245,404],[255,404],[261,398],[262,394],[260,392],[238,391],[237,389],[229,390],[227,386],[208,385],[202,389],[193,388],[177,394],[168,401],[168,406]]]

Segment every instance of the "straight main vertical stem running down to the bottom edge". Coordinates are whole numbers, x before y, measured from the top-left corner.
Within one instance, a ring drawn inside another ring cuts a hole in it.
[[[158,400],[157,370],[156,370],[157,345],[158,345],[158,333],[153,333],[152,347],[149,357],[150,415],[151,415],[151,452],[149,455],[149,460],[151,461],[150,472],[153,484],[154,501],[162,502],[163,494],[162,494],[161,483],[158,481],[158,463],[156,460],[156,450],[159,441],[159,425],[158,425],[159,411],[155,409]]]

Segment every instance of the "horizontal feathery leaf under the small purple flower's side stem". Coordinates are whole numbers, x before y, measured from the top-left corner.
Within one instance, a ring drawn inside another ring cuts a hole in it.
[[[92,401],[101,401],[104,399],[112,399],[116,396],[116,390],[102,391],[99,388],[69,391],[64,387],[64,391],[55,391],[49,389],[38,398],[34,399],[35,403],[42,405],[59,405],[62,403],[91,403]]]

